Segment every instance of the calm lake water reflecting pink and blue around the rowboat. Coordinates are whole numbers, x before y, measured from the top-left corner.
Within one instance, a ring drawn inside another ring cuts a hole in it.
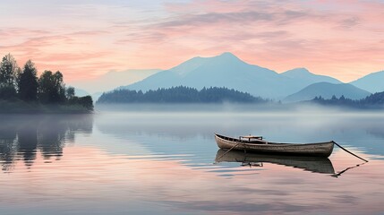
[[[334,140],[369,162],[338,148],[329,159],[231,151],[216,162],[214,133]],[[0,214],[384,214],[384,114],[0,116],[0,166]]]

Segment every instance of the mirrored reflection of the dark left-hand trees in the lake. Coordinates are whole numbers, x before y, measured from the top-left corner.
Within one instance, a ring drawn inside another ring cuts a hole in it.
[[[74,142],[74,133],[92,132],[93,117],[0,116],[0,122],[0,163],[9,171],[18,159],[32,166],[38,150],[44,159],[60,159],[65,142]]]

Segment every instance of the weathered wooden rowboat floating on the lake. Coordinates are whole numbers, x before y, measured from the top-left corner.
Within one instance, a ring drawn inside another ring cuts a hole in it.
[[[314,157],[329,157],[335,142],[314,143],[280,143],[268,142],[261,136],[226,137],[215,133],[218,148],[226,150],[243,150],[262,154],[285,154]]]

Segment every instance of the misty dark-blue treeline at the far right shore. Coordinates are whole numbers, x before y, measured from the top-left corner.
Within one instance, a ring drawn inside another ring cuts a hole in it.
[[[358,107],[358,108],[379,108],[384,107],[384,91],[377,92],[367,96],[364,99],[353,100],[347,99],[344,96],[341,96],[337,99],[336,96],[333,96],[331,99],[323,99],[322,97],[316,97],[311,100],[312,102],[321,104],[321,105],[332,105],[332,106],[346,106],[346,107]]]

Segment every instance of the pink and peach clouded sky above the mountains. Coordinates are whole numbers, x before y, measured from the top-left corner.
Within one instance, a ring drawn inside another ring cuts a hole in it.
[[[223,52],[350,82],[384,69],[383,23],[379,0],[3,0],[0,55],[60,70],[65,82]]]

